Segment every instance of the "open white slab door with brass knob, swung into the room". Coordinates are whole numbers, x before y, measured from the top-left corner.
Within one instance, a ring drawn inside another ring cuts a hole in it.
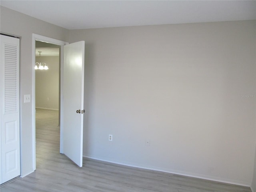
[[[64,46],[63,153],[82,167],[84,41]],[[80,110],[80,112],[79,112]]]

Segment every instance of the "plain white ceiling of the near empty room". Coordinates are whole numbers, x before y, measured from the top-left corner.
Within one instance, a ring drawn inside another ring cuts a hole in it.
[[[256,19],[256,0],[1,0],[0,5],[66,29]]]

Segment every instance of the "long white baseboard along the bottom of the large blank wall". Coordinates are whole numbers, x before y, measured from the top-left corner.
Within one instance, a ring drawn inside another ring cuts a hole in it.
[[[194,178],[199,178],[199,179],[205,179],[205,180],[211,180],[211,181],[216,181],[216,182],[222,182],[222,183],[227,183],[227,184],[234,184],[234,185],[239,185],[239,186],[245,186],[245,187],[250,187],[251,184],[247,182],[239,182],[239,181],[234,181],[234,180],[227,180],[223,178],[215,178],[215,177],[210,177],[210,176],[205,176],[205,175],[200,175],[200,174],[193,174],[193,173],[187,173],[187,172],[179,172],[176,170],[164,170],[162,168],[158,167],[147,167],[147,166],[141,166],[141,165],[132,165],[127,162],[114,162],[111,160],[106,160],[103,158],[95,158],[87,155],[83,155],[85,158],[90,158],[90,159],[95,159],[95,160],[100,160],[100,161],[105,161],[105,162],[110,162],[110,163],[115,163],[115,164],[120,164],[120,165],[125,165],[125,166],[131,166],[131,167],[136,167],[136,168],[142,168],[142,169],[148,169],[148,170],[154,170],[154,171],[161,171],[161,172],[166,172],[166,173],[171,173],[171,174],[177,174],[177,175],[182,175],[182,176],[188,176],[188,177],[194,177]],[[254,191],[252,191],[254,192]]]

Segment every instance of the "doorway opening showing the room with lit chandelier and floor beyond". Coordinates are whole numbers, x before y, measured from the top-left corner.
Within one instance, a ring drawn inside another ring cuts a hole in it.
[[[60,46],[36,41],[35,57],[36,164],[40,166],[60,151]]]

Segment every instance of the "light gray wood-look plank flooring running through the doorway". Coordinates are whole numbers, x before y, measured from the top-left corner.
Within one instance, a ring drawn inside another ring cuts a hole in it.
[[[36,171],[1,192],[251,192],[224,184],[84,158],[79,168],[59,153],[58,111],[36,109]]]

